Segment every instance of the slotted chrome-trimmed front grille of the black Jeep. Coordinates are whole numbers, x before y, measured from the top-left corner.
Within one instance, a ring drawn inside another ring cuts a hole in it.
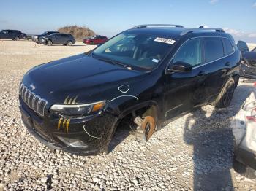
[[[45,106],[48,102],[31,92],[26,85],[20,85],[20,97],[34,112],[41,116],[45,115]]]

